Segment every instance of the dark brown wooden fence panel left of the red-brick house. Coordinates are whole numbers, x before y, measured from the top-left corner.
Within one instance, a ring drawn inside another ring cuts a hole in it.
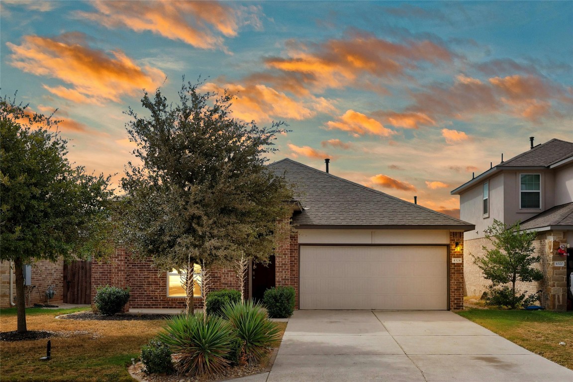
[[[64,264],[64,303],[91,304],[92,263],[72,261]]]

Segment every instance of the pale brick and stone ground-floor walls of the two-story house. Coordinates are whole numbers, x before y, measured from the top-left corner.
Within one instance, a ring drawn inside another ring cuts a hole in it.
[[[556,261],[565,261],[564,257],[557,254],[559,245],[566,244],[563,233],[544,232],[537,235],[533,241],[534,255],[540,256],[541,261],[533,265],[543,273],[543,280],[539,282],[516,282],[516,288],[522,292],[535,293],[541,290],[539,303],[547,309],[567,310],[567,267],[556,267]],[[486,286],[491,282],[483,278],[481,270],[474,265],[473,255],[483,256],[485,251],[482,246],[492,247],[486,238],[472,239],[464,242],[466,254],[465,263],[465,296],[481,296]]]

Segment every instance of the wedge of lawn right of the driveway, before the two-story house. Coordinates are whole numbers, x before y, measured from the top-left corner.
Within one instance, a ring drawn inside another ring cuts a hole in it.
[[[457,313],[528,351],[573,370],[573,312],[470,308]],[[559,345],[559,342],[566,345]]]

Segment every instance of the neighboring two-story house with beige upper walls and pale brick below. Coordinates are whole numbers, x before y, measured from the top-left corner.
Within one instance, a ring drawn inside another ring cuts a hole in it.
[[[476,225],[464,234],[465,295],[481,296],[488,283],[470,256],[484,255],[484,245],[492,247],[484,230],[493,219],[507,225],[520,220],[521,229],[539,233],[534,245],[544,279],[517,286],[530,293],[541,290],[540,302],[548,309],[571,309],[573,143],[552,139],[533,146],[533,137],[530,140],[528,151],[502,160],[452,191],[460,195],[460,219]],[[559,253],[562,245],[570,255]]]

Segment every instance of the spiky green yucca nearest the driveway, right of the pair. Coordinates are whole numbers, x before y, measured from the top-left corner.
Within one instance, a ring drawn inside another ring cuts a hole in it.
[[[237,338],[244,341],[244,354],[250,364],[260,363],[272,343],[278,340],[280,329],[270,321],[260,304],[252,301],[230,302],[223,307]]]

